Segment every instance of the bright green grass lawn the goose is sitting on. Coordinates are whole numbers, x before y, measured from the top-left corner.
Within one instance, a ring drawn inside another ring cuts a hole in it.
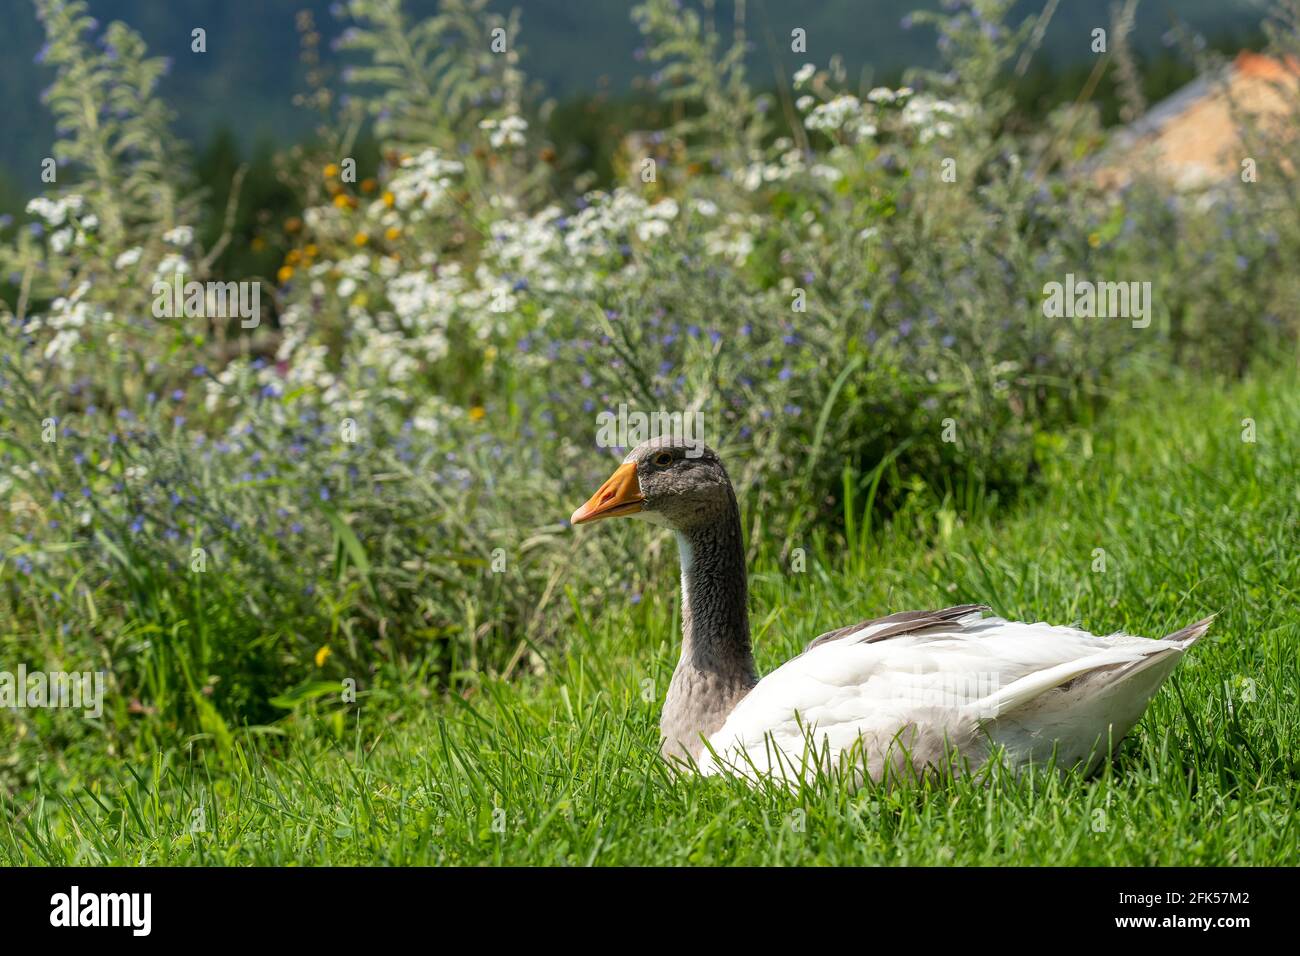
[[[0,797],[0,861],[1295,865],[1290,381],[1188,385],[1117,406],[1095,433],[1044,441],[1043,489],[1015,507],[958,512],[918,496],[871,529],[858,494],[854,544],[810,532],[805,574],[751,542],[764,671],[822,631],[904,607],[985,601],[1006,617],[1148,636],[1217,611],[1091,780],[789,793],[672,778],[656,744],[677,589],[671,541],[644,528],[633,540],[655,591],[633,605],[611,583],[599,615],[578,610],[569,646],[543,650],[537,672],[482,678],[450,700],[382,687],[346,714],[306,705],[228,743],[51,748],[30,787]],[[1244,418],[1254,444],[1242,441]],[[1098,548],[1104,572],[1092,570]]]

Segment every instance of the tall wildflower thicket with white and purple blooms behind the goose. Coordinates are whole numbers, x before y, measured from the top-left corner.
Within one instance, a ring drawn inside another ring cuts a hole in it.
[[[333,135],[286,151],[303,211],[265,280],[274,321],[244,333],[150,306],[155,281],[214,261],[164,65],[40,0],[75,172],[0,245],[21,290],[0,316],[8,611],[94,648],[133,706],[220,736],[290,687],[510,670],[562,639],[556,584],[604,583],[562,537],[607,470],[601,411],[701,411],[751,545],[776,550],[881,468],[887,502],[1011,490],[1126,376],[1294,347],[1295,170],[1202,208],[1058,168],[1060,142],[1008,121],[1034,35],[1006,5],[935,18],[948,69],[910,87],[858,96],[803,66],[783,125],[744,44],[649,0],[655,78],[689,109],[658,134],[671,160],[590,190],[547,159],[515,20],[342,4],[359,61],[347,94],[311,98]],[[384,165],[356,182],[361,121]],[[1157,321],[1048,319],[1067,272],[1149,278]]]

